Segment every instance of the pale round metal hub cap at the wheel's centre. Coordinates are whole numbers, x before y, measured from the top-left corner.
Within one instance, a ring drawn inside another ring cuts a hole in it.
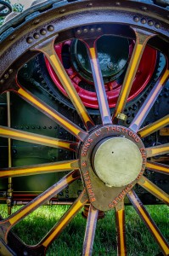
[[[95,172],[110,187],[131,183],[143,164],[139,148],[125,137],[106,139],[96,146],[93,154]]]

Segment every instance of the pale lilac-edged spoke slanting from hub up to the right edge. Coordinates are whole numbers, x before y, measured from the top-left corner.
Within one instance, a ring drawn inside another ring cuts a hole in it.
[[[166,84],[168,76],[169,76],[169,70],[166,69],[165,67],[163,73],[161,73],[161,76],[156,81],[153,89],[149,92],[149,96],[146,98],[142,107],[139,109],[137,115],[132,120],[132,124],[129,127],[130,129],[132,129],[132,131],[137,132],[140,126],[143,124],[144,119],[149,113],[149,110],[152,108],[157,97],[161,93],[161,90],[163,89],[164,84]]]

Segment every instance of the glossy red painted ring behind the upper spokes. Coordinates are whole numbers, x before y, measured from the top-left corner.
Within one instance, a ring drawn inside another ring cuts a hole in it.
[[[70,43],[71,41],[69,40],[69,41],[66,41],[65,43],[57,44],[54,46],[55,51],[57,55],[59,55],[59,60],[61,62],[62,62],[62,57],[61,57],[62,47],[65,44],[70,45]],[[142,59],[138,67],[138,72],[136,73],[136,77],[133,81],[132,90],[127,99],[127,102],[132,101],[136,96],[138,96],[144,90],[146,85],[149,84],[149,81],[152,78],[153,73],[155,72],[156,58],[157,58],[157,51],[153,48],[150,48],[149,46],[146,46],[144,49],[144,54],[142,56]],[[54,73],[54,69],[53,67],[51,67],[47,58],[45,59],[45,62],[48,68],[48,73],[50,77],[53,79],[54,84],[66,97],[68,97],[65,92],[65,89],[63,88],[62,84],[59,82],[59,79],[57,75]],[[75,69],[73,67],[70,67],[69,69],[65,69],[65,70],[68,73],[72,81],[72,84],[75,86],[76,91],[78,92],[78,95],[81,97],[83,104],[87,108],[99,108],[96,93],[93,91],[85,90],[79,86],[79,83],[83,79],[78,73],[76,73]],[[91,86],[93,85],[91,84]],[[106,83],[105,90],[106,90],[109,106],[110,108],[114,108],[121,90],[121,84],[118,84],[117,81]]]

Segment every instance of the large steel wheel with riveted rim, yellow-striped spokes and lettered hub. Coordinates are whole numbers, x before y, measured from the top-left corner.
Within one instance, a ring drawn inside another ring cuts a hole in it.
[[[168,79],[167,15],[166,9],[149,3],[140,4],[137,1],[76,1],[75,3],[50,1],[28,9],[14,21],[9,21],[3,26],[0,45],[1,63],[3,63],[0,67],[1,93],[7,92],[9,95],[8,92],[11,91],[10,94],[20,96],[73,136],[72,141],[66,141],[20,131],[10,127],[10,119],[8,119],[8,126],[1,125],[0,136],[8,137],[8,168],[1,169],[2,178],[8,177],[11,181],[12,177],[68,171],[65,177],[27,203],[25,207],[1,221],[0,236],[3,255],[15,255],[14,253],[44,255],[48,246],[87,203],[90,207],[82,255],[92,255],[99,211],[104,212],[112,208],[115,208],[117,253],[126,255],[124,218],[126,195],[140,218],[148,226],[149,232],[155,237],[162,253],[168,255],[169,246],[166,239],[134,191],[137,185],[148,190],[163,203],[169,202],[166,192],[145,175],[145,169],[166,175],[169,173],[167,166],[169,144],[154,144],[152,147],[147,147],[144,143],[144,138],[169,125],[168,113],[149,125],[145,125],[144,122]],[[97,40],[104,35],[122,36],[135,42],[113,113],[110,113],[96,49]],[[87,47],[99,103],[101,119],[99,124],[90,117],[54,51],[54,44],[60,44],[72,38],[81,40]],[[127,98],[147,44],[161,52],[166,64],[155,83],[152,84],[152,88],[149,89],[149,95],[144,102],[140,103],[138,112],[128,127],[125,114]],[[82,125],[77,125],[79,120],[77,124],[72,122],[71,117],[66,118],[40,97],[33,95],[29,85],[25,86],[23,80],[18,79],[20,68],[39,53],[45,55],[53,67],[70,102],[82,119]],[[10,148],[13,139],[70,150],[76,154],[76,157],[42,165],[12,167]],[[158,159],[155,158],[157,156]],[[164,156],[166,164],[161,164],[161,156]],[[14,236],[10,230],[15,224],[80,177],[84,186],[81,195],[42,241],[36,246],[27,246]]]

